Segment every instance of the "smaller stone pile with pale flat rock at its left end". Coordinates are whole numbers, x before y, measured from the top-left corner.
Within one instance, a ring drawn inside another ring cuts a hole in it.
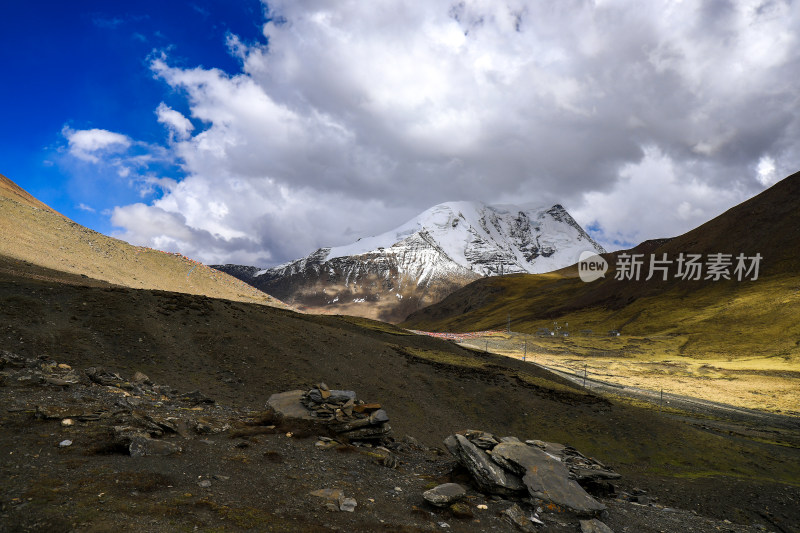
[[[349,390],[331,390],[324,383],[308,391],[273,394],[268,404],[284,418],[321,423],[350,441],[382,440],[389,435],[389,415],[378,403],[365,403]]]

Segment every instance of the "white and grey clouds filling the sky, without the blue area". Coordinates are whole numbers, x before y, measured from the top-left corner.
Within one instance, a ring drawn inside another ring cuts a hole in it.
[[[171,132],[156,159],[185,177],[119,206],[124,238],[267,266],[466,199],[562,203],[613,249],[683,233],[800,166],[797,2],[267,9],[264,39],[220,43],[238,72],[152,60],[188,109],[156,109]],[[86,160],[131,142],[86,131]]]

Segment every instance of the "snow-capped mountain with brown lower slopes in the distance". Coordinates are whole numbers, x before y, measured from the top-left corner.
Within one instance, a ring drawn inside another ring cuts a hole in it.
[[[605,251],[561,205],[448,202],[381,235],[271,269],[215,268],[315,312],[394,321],[479,277],[557,270],[585,250]]]

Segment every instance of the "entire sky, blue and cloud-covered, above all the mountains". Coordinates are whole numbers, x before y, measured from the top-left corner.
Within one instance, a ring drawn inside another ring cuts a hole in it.
[[[800,169],[799,31],[788,0],[3,2],[0,173],[206,263],[455,200],[617,249]]]

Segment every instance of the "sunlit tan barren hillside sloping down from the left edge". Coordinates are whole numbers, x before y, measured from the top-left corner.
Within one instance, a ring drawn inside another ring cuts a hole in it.
[[[25,275],[35,265],[135,289],[205,295],[285,307],[249,285],[178,254],[132,246],[76,224],[0,175],[2,268]],[[20,263],[23,262],[23,263]],[[26,268],[19,265],[29,263]],[[16,265],[16,266],[15,266]],[[77,278],[76,278],[77,276]],[[59,281],[67,281],[59,279]]]

